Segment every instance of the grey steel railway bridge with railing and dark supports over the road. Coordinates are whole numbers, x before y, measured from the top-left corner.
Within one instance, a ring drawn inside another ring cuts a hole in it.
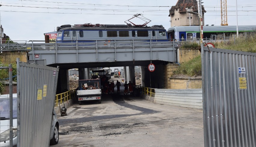
[[[112,40],[111,42],[69,43],[31,41],[2,44],[2,51],[3,53],[23,52],[20,53],[23,56],[19,56],[21,58],[27,56],[29,63],[59,67],[57,93],[69,89],[68,70],[72,68],[79,69],[79,79],[88,79],[90,77],[89,68],[123,66],[124,79],[135,81],[134,66],[141,66],[142,86],[167,88],[169,77],[166,77],[165,66],[169,63],[186,60],[182,57],[182,51],[178,49],[178,42],[153,42],[151,40],[147,42],[142,40]],[[186,58],[191,58],[192,52],[184,53],[187,53]],[[11,58],[12,55],[9,56]],[[15,59],[12,60],[15,61]],[[151,63],[155,65],[154,72],[148,71],[148,65]]]

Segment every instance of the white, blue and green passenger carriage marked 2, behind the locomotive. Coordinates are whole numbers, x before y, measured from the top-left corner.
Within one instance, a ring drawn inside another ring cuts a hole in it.
[[[256,31],[256,25],[238,26],[239,33]],[[236,33],[236,26],[203,26],[203,39],[215,39],[215,35]],[[200,39],[200,26],[177,26],[167,30],[169,39],[175,41]]]

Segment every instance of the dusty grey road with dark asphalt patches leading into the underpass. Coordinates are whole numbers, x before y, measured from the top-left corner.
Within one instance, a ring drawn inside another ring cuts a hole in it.
[[[204,146],[203,110],[122,93],[102,95],[101,104],[74,104],[67,116],[57,117],[59,143],[54,147]]]

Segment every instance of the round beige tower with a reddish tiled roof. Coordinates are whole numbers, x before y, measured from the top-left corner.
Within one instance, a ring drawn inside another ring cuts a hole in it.
[[[175,6],[172,6],[169,10],[169,16],[171,17],[171,26],[189,26],[200,25],[200,19],[198,14],[187,13],[186,8],[198,13],[197,0],[178,0]],[[202,6],[203,13],[203,25],[204,25],[204,7]]]

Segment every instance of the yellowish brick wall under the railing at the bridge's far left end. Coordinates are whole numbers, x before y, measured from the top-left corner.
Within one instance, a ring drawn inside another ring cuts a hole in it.
[[[16,58],[20,58],[21,62],[28,62],[27,53],[0,53],[0,61],[4,64],[10,64],[13,61],[16,61]]]

